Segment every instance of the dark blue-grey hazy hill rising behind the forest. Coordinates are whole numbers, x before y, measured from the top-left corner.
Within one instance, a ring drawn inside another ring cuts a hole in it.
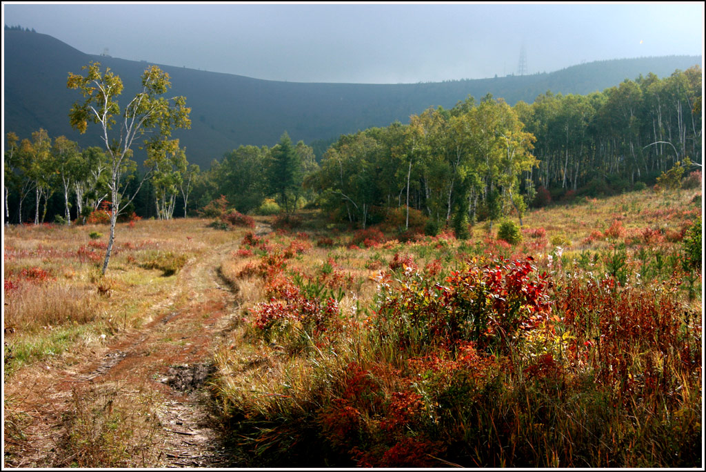
[[[84,54],[48,35],[5,30],[5,131],[25,138],[42,127],[49,136],[63,134],[81,146],[100,145],[95,128],[81,136],[68,124],[68,110],[80,94],[66,88],[66,77],[89,61],[100,61],[122,78],[124,97],[137,92],[141,73],[152,64]],[[395,120],[407,123],[411,114],[430,106],[450,108],[468,95],[479,100],[492,93],[514,105],[547,90],[587,94],[640,74],[664,77],[701,63],[698,56],[616,59],[531,76],[396,85],[264,81],[158,65],[172,77],[172,93],[186,96],[192,109],[191,129],[174,136],[186,146],[189,162],[208,167],[241,144],[273,146],[285,130],[293,141],[311,143]]]

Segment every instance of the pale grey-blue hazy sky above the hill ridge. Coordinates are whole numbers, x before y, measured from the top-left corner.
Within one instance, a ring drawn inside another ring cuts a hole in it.
[[[88,54],[292,82],[416,83],[703,52],[686,4],[3,4]]]

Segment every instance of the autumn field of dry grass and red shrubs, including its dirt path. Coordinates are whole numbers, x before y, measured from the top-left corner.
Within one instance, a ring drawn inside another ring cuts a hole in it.
[[[701,205],[5,228],[5,464],[700,467]]]

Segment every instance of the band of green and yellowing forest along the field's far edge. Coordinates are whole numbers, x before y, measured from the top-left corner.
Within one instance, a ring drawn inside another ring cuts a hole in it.
[[[153,151],[121,178],[133,199],[121,218],[198,215],[225,196],[241,213],[322,208],[359,228],[405,208],[434,235],[446,225],[494,221],[526,208],[657,184],[662,173],[700,167],[700,66],[650,73],[590,95],[550,91],[510,107],[469,97],[340,136],[317,159],[287,132],[272,148],[240,146],[208,169],[189,165],[179,141]],[[321,146],[321,143],[314,143]],[[323,151],[323,148],[320,148]],[[80,149],[66,136],[6,134],[6,223],[85,223],[109,201],[104,149]]]

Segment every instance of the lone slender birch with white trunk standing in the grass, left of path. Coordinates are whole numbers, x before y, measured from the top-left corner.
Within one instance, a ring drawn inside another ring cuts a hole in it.
[[[123,177],[136,169],[133,161],[133,145],[147,134],[143,142],[148,148],[160,146],[160,142],[171,136],[172,130],[191,127],[186,98],[164,98],[171,88],[169,74],[157,66],[149,66],[142,75],[142,90],[121,109],[117,97],[123,90],[119,76],[107,68],[100,70],[100,63],[90,62],[83,66],[85,76],[68,73],[66,86],[78,89],[83,94],[83,102],[76,102],[69,112],[69,122],[81,134],[88,129],[88,123],[100,126],[101,138],[109,160],[108,189],[111,196],[110,236],[105,252],[102,273],[108,269],[110,254],[115,240],[115,224],[119,213],[135,198],[138,190],[126,194]],[[148,134],[149,133],[149,134]]]

